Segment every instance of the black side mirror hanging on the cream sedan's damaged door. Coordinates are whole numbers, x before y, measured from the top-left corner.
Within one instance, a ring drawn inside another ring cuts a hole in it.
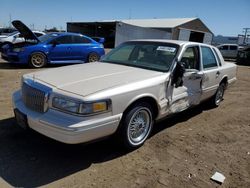
[[[177,62],[175,69],[172,74],[172,83],[175,87],[180,87],[183,85],[183,75],[185,73],[185,67],[181,62]]]

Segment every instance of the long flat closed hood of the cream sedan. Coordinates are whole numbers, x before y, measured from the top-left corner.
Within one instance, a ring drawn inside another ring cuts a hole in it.
[[[152,70],[96,62],[45,70],[26,76],[66,92],[88,96],[162,74]]]

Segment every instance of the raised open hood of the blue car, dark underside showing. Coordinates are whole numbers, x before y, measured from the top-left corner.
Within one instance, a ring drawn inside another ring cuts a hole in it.
[[[39,39],[36,35],[20,20],[14,20],[12,25],[23,35],[25,40],[33,41],[35,43],[39,42]]]

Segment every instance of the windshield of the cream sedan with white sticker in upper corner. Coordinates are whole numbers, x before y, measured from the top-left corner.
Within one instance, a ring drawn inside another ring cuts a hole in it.
[[[126,42],[110,51],[101,61],[167,72],[178,48],[178,45],[172,43]]]

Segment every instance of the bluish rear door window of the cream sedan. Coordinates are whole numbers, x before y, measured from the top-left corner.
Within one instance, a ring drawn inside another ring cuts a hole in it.
[[[201,52],[202,52],[202,64],[204,69],[218,66],[215,56],[209,47],[202,46]]]

